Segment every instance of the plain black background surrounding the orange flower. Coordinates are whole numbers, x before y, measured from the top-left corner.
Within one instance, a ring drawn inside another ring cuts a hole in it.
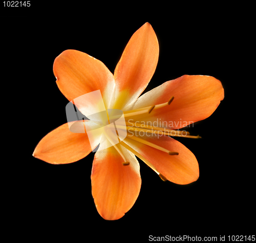
[[[255,159],[248,157],[255,140],[245,138],[253,125],[246,109],[254,104],[248,100],[253,76],[244,76],[252,72],[252,63],[246,64],[252,56],[249,7],[31,3],[27,9],[2,8],[0,19],[7,229],[24,238],[69,235],[72,242],[76,236],[146,242],[150,235],[255,234]],[[146,21],[160,54],[145,92],[184,74],[201,74],[221,80],[225,98],[212,116],[190,128],[202,139],[179,139],[197,157],[199,180],[163,182],[139,161],[142,186],[135,205],[121,219],[107,221],[91,194],[93,153],[68,165],[51,165],[32,153],[41,138],[66,123],[68,100],[55,83],[55,57],[79,50],[114,72],[126,43]]]

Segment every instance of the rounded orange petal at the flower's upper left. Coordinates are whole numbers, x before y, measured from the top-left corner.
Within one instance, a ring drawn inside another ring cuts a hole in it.
[[[106,108],[113,105],[115,93],[113,74],[94,57],[76,50],[63,51],[54,61],[53,72],[59,90],[69,101],[100,90]]]

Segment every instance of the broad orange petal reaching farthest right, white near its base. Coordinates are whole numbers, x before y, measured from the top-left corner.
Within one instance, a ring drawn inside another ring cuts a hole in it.
[[[170,105],[153,109],[150,114],[133,119],[151,121],[152,124],[161,121],[159,126],[179,129],[209,117],[223,100],[224,90],[221,82],[214,77],[184,75],[145,93],[137,100],[134,108],[165,103],[172,96],[174,100]]]

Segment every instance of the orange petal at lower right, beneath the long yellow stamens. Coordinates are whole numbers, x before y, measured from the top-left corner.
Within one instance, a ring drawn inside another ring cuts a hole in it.
[[[141,154],[155,168],[165,176],[168,181],[177,184],[189,184],[199,177],[199,166],[194,154],[183,144],[168,136],[148,137],[140,136],[142,139],[159,145],[169,151],[178,152],[178,155],[169,155],[151,146],[125,138],[123,141]]]

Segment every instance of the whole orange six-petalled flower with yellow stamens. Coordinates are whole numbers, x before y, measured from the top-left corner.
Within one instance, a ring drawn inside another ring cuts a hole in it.
[[[75,50],[62,52],[54,61],[57,85],[69,101],[100,90],[105,108],[124,114],[126,126],[121,128],[127,130],[127,137],[97,151],[93,161],[92,194],[104,219],[121,218],[139,195],[140,167],[135,156],[164,181],[188,184],[199,177],[194,154],[171,137],[199,138],[177,129],[209,117],[224,98],[223,87],[214,77],[184,75],[139,97],[155,72],[158,54],[156,34],[146,23],[127,43],[114,75],[101,61]],[[76,102],[81,112],[89,105]],[[82,120],[76,126],[83,123],[94,125]],[[86,157],[92,147],[86,132],[71,132],[66,123],[46,135],[33,156],[51,164],[67,164]]]

